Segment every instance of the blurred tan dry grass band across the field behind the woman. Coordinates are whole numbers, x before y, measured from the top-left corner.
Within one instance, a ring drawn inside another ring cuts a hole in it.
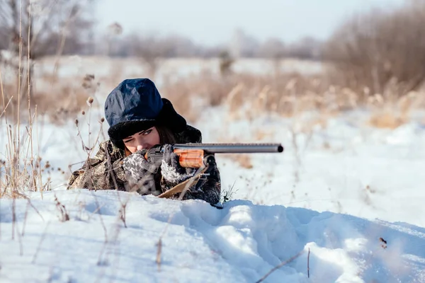
[[[113,78],[112,75],[109,79],[86,75],[58,79],[45,75],[35,83],[32,104],[37,105],[38,113],[50,115],[52,121],[74,120],[86,106],[87,97],[98,91],[99,81],[113,81]],[[400,97],[404,87],[395,80],[385,86],[382,95],[373,95],[369,88],[356,92],[344,87],[342,81],[340,85],[335,82],[326,71],[310,76],[296,73],[221,76],[203,71],[178,81],[166,79],[159,91],[191,123],[196,122],[205,109],[222,105],[229,110],[229,120],[255,120],[265,113],[297,117],[305,112],[317,113],[326,120],[349,110],[368,108],[371,110],[370,125],[393,128],[409,121],[411,110],[425,106],[423,92],[410,92]],[[16,87],[7,85],[4,88],[7,101]],[[16,109],[13,103],[14,100],[9,110]],[[320,123],[325,124],[324,121]]]

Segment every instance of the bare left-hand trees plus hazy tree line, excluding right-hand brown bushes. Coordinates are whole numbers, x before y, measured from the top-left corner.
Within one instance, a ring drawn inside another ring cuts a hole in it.
[[[123,33],[119,23],[95,30],[96,0],[0,0],[0,50],[38,59],[51,55],[101,54],[111,57],[232,57],[319,59],[321,42],[306,37],[291,44],[264,42],[236,30],[227,45],[202,45],[183,35]],[[28,30],[30,36],[28,37]],[[29,42],[28,42],[29,40]]]

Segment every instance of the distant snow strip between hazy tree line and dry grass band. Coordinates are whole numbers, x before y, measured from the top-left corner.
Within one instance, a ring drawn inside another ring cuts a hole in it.
[[[6,59],[13,58],[13,54],[4,53]],[[108,88],[113,88],[113,84],[123,81],[123,79],[140,77],[140,74],[149,74],[147,67],[139,58],[110,58],[110,57],[81,57],[77,55],[62,56],[59,61],[59,68],[55,74],[57,57],[45,57],[35,63],[35,74],[38,79],[44,76],[57,75],[60,79],[79,78],[85,74],[94,74],[101,79]],[[282,59],[279,71],[285,73],[298,72],[300,74],[316,74],[324,69],[324,64],[300,59]],[[6,67],[1,65],[1,67]],[[274,74],[276,72],[275,62],[268,59],[241,58],[234,62],[232,69],[241,73],[251,74]],[[11,76],[7,76],[5,82],[10,82],[15,78],[13,71],[8,70]],[[155,83],[160,85],[164,81],[176,81],[181,78],[188,78],[193,74],[203,71],[212,74],[219,74],[220,59],[212,58],[165,58],[159,59]],[[113,79],[111,79],[113,78]],[[49,89],[48,81],[38,81],[38,87]]]

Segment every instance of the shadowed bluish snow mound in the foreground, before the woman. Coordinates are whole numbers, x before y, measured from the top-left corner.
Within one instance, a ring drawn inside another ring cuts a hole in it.
[[[1,282],[256,282],[295,255],[265,282],[425,282],[425,229],[310,209],[72,190],[0,224]]]

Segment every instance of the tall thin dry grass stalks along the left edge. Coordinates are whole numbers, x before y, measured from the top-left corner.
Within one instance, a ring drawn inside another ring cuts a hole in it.
[[[21,10],[22,11],[22,10]],[[28,18],[31,11],[28,10]],[[19,52],[16,88],[5,86],[3,81],[3,66],[0,65],[0,93],[4,122],[4,138],[6,144],[6,160],[0,166],[0,197],[26,197],[28,191],[42,192],[49,185],[42,180],[42,158],[35,148],[38,135],[37,108],[31,108],[33,95],[32,57],[30,48],[24,52],[25,32],[28,32],[27,42],[30,42],[32,30],[22,30],[22,13],[19,18]],[[25,121],[25,122],[24,122]]]

